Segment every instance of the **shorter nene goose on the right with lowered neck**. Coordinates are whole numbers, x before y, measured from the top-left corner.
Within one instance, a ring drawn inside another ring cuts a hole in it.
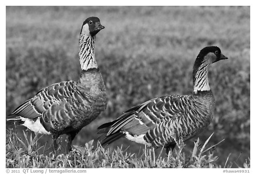
[[[203,48],[193,66],[192,95],[155,98],[128,109],[116,120],[102,124],[102,145],[120,137],[148,147],[164,147],[166,153],[177,141],[186,141],[200,133],[212,120],[215,100],[208,83],[208,66],[227,59],[217,46]]]

